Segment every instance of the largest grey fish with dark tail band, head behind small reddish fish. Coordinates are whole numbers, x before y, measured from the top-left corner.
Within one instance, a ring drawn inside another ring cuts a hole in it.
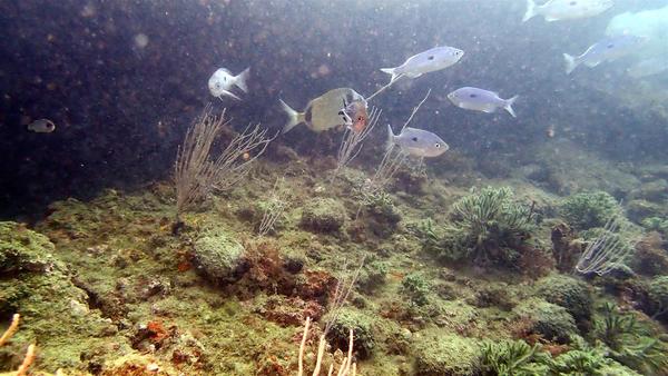
[[[312,99],[306,105],[304,112],[297,112],[284,102],[283,99],[279,100],[283,110],[288,117],[287,123],[283,127],[283,133],[288,132],[302,122],[306,123],[308,129],[322,132],[323,130],[344,126],[346,121],[341,113],[342,103],[364,101],[364,97],[351,88],[333,89]]]

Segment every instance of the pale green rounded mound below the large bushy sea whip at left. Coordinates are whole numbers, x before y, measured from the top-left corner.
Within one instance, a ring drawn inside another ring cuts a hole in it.
[[[244,247],[223,230],[209,230],[195,241],[193,265],[216,284],[234,283],[248,270]]]

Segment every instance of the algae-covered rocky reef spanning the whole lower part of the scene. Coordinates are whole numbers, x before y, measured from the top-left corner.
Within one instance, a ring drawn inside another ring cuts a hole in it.
[[[668,219],[635,209],[662,205],[659,184],[556,196],[513,177],[446,186],[428,169],[420,189],[371,194],[363,170],[332,180],[292,158],[261,161],[178,231],[160,181],[53,202],[30,228],[1,222],[0,326],[23,320],[0,369],[37,344],[35,374],[294,375],[311,318],[304,363],[324,336],[322,364],[350,350],[361,375],[668,374]],[[278,178],[289,195],[263,204]],[[627,204],[606,192],[623,189]],[[279,226],[261,234],[271,210]],[[610,216],[628,257],[578,274]]]

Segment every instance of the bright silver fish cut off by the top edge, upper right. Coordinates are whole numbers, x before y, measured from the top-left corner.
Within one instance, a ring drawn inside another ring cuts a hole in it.
[[[550,0],[542,6],[527,0],[527,13],[522,22],[536,16],[542,16],[548,22],[588,18],[598,16],[612,6],[612,0]]]

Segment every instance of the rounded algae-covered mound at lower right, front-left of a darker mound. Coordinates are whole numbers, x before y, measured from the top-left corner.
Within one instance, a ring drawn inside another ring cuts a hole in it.
[[[538,334],[547,340],[567,344],[578,333],[576,320],[569,311],[542,299],[529,299],[518,305],[513,311],[520,318],[518,329],[523,336]]]

